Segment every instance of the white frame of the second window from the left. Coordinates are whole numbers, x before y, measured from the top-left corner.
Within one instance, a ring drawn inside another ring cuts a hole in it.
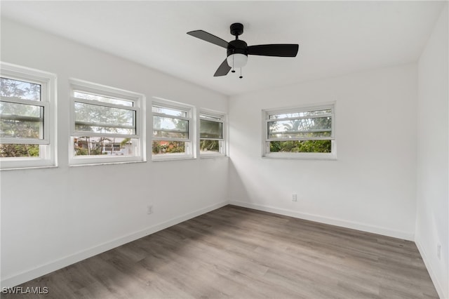
[[[112,104],[109,102],[101,102],[98,100],[86,100],[76,98],[74,92],[88,93],[93,95],[100,95],[107,98],[116,98],[133,102],[133,106],[125,106],[119,104]],[[126,91],[112,86],[105,86],[80,79],[69,79],[69,98],[70,98],[70,134],[69,134],[69,166],[77,165],[96,165],[96,164],[115,164],[115,163],[131,163],[131,162],[145,162],[145,95],[142,93],[135,93],[133,91]],[[75,102],[81,102],[88,105],[98,105],[102,107],[110,107],[116,109],[126,109],[135,112],[134,126],[135,134],[121,134],[121,133],[87,133],[86,131],[76,131],[75,126]],[[114,155],[91,155],[91,156],[76,156],[74,154],[74,138],[78,136],[89,137],[112,137],[112,138],[132,138],[135,154],[132,156],[114,156]]]

